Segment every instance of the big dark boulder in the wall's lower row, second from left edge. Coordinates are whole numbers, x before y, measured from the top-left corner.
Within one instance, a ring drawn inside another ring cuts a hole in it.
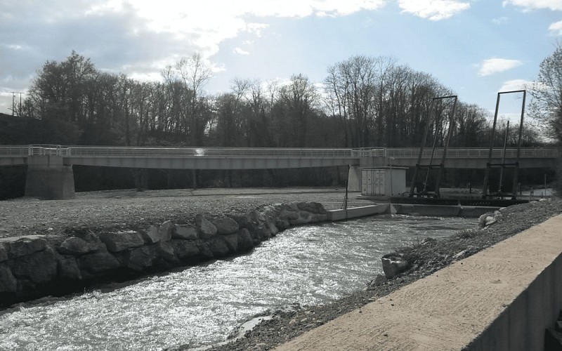
[[[15,277],[30,279],[34,284],[46,284],[57,275],[56,253],[51,247],[11,260],[8,265]]]

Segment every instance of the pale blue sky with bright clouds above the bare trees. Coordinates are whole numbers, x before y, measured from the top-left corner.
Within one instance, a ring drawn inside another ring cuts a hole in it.
[[[0,0],[0,112],[73,50],[140,81],[200,53],[209,94],[236,78],[321,83],[337,62],[385,56],[493,112],[497,93],[529,86],[561,40],[562,0]],[[500,116],[521,102],[502,95]]]

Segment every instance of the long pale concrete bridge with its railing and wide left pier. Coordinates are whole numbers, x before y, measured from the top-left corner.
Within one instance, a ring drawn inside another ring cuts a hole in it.
[[[444,150],[424,150],[422,162],[438,165]],[[487,148],[449,148],[445,168],[486,168]],[[504,157],[505,155],[505,157]],[[522,149],[521,168],[554,166],[561,149]],[[417,148],[235,148],[235,147],[67,147],[61,145],[0,146],[0,166],[27,165],[26,196],[74,197],[72,165],[164,169],[266,169],[353,166],[415,166]],[[492,162],[515,162],[516,149],[497,149]],[[357,181],[357,180],[356,180]],[[359,183],[360,184],[360,183]]]

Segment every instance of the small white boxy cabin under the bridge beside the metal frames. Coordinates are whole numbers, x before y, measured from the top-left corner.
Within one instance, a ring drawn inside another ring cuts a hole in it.
[[[398,196],[406,192],[406,167],[377,167],[361,170],[361,194]]]

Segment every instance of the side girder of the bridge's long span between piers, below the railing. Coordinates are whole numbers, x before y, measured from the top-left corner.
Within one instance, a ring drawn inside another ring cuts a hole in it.
[[[267,169],[347,166],[348,164],[359,164],[359,159],[318,159],[313,157],[65,157],[65,164],[161,169]]]

